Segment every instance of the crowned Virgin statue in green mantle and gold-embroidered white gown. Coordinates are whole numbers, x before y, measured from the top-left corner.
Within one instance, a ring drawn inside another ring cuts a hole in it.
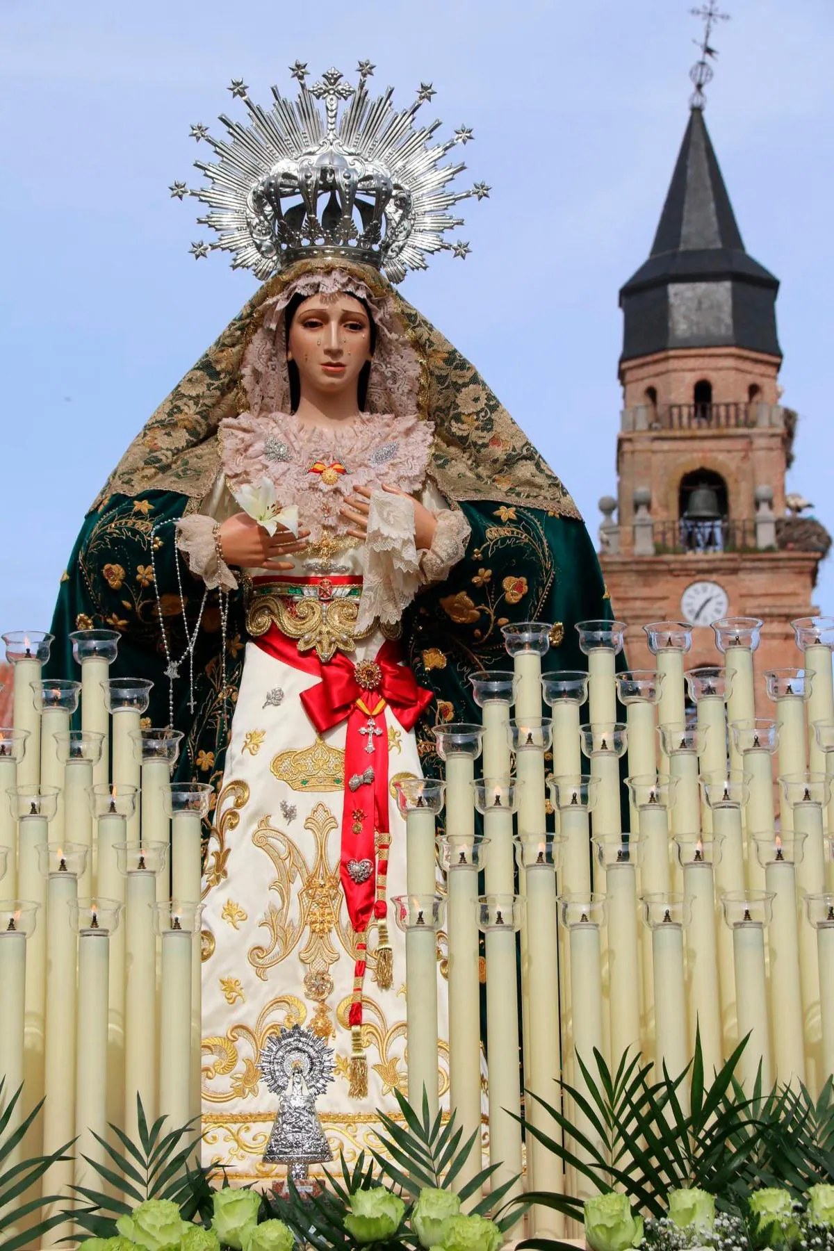
[[[596,557],[551,469],[470,365],[395,289],[466,195],[455,143],[418,100],[371,98],[360,63],[270,110],[243,83],[221,119],[203,219],[263,285],[150,418],[90,509],[53,633],[111,627],[114,676],[153,678],[183,732],[180,781],[209,781],[203,921],[206,1160],[238,1180],[275,1117],[259,1057],[301,1025],[336,1053],[320,1111],[366,1146],[405,1090],[405,892],[393,783],[439,769],[431,729],[479,719],[470,674],[508,666],[501,626],[609,615]],[[341,114],[339,115],[341,110]],[[171,188],[183,198],[183,183]],[[53,673],[73,668],[69,643]],[[445,1055],[443,938],[438,952]],[[441,1060],[440,1093],[448,1086]]]

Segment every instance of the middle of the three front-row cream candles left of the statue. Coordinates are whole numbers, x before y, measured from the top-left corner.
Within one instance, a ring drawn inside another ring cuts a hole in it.
[[[78,1048],[75,1063],[75,1185],[93,1186],[98,1175],[88,1160],[105,1162],[108,1122],[108,955],[106,929],[79,933]],[[121,1116],[121,1108],[119,1108]]]

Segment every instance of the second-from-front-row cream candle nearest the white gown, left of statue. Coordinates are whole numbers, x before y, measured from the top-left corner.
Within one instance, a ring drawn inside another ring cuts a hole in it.
[[[125,1132],[138,1132],[136,1095],[149,1125],[156,1106],[156,942],[153,904],[154,873],[131,868],[126,879],[125,908]]]

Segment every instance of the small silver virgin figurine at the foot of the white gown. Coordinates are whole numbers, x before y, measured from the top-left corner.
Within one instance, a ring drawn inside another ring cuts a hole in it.
[[[264,1163],[289,1165],[288,1176],[303,1186],[309,1165],[333,1160],[315,1110],[316,1096],[333,1081],[333,1050],[294,1025],[266,1040],[258,1067],[269,1090],[280,1096]]]

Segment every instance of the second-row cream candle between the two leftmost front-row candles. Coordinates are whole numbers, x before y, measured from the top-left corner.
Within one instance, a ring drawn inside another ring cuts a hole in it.
[[[76,851],[76,844],[71,844]],[[65,848],[69,851],[68,848]],[[54,856],[50,854],[50,859]],[[66,866],[68,861],[59,863]],[[41,866],[43,867],[43,866]],[[75,963],[76,936],[71,906],[78,899],[74,872],[50,872],[46,884],[46,1035],[44,1050],[44,1152],[65,1146],[75,1136]],[[44,1190],[70,1200],[73,1161],[53,1165]]]

